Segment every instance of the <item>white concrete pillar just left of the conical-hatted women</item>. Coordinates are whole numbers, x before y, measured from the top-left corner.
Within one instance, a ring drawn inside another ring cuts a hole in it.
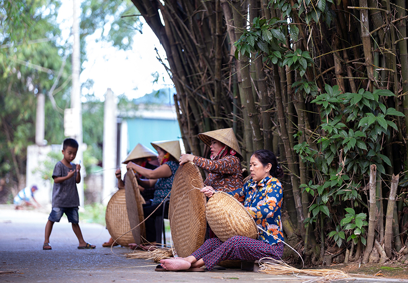
[[[104,145],[103,168],[104,188],[102,202],[108,204],[110,195],[116,188],[116,152],[117,152],[117,105],[116,97],[108,88],[104,103]]]

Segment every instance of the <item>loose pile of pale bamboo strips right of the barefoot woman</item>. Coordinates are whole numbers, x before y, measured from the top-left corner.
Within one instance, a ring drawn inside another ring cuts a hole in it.
[[[297,269],[290,265],[279,262],[263,262],[260,263],[260,272],[272,274],[272,275],[284,275],[284,274],[306,274],[310,276],[319,276],[324,281],[338,280],[343,278],[349,278],[345,272],[337,269]]]

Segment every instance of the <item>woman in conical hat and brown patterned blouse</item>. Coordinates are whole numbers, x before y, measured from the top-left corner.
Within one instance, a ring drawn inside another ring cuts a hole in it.
[[[241,188],[241,150],[232,128],[223,128],[198,134],[198,138],[211,149],[210,159],[186,154],[180,157],[180,165],[191,161],[209,171],[204,184],[216,191],[230,192]]]

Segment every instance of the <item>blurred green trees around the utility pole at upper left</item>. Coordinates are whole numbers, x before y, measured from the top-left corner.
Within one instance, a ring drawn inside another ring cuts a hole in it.
[[[25,186],[27,146],[35,142],[38,93],[46,94],[45,139],[48,144],[64,139],[71,47],[57,23],[60,6],[59,0],[0,0],[0,195],[7,200]],[[121,18],[123,13],[136,13],[130,1],[84,1],[82,11],[82,61],[86,60],[86,38],[91,35],[118,48],[130,48],[139,30],[135,17]],[[83,87],[90,86],[92,82]],[[83,111],[84,142],[101,161],[103,102],[92,93],[85,98],[89,104]]]

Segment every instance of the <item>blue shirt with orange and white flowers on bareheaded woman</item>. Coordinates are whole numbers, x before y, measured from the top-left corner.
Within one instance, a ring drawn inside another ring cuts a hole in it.
[[[284,241],[282,233],[281,206],[282,185],[275,177],[268,176],[259,183],[249,179],[244,186],[231,193],[254,218],[259,230],[258,240],[269,244]]]

